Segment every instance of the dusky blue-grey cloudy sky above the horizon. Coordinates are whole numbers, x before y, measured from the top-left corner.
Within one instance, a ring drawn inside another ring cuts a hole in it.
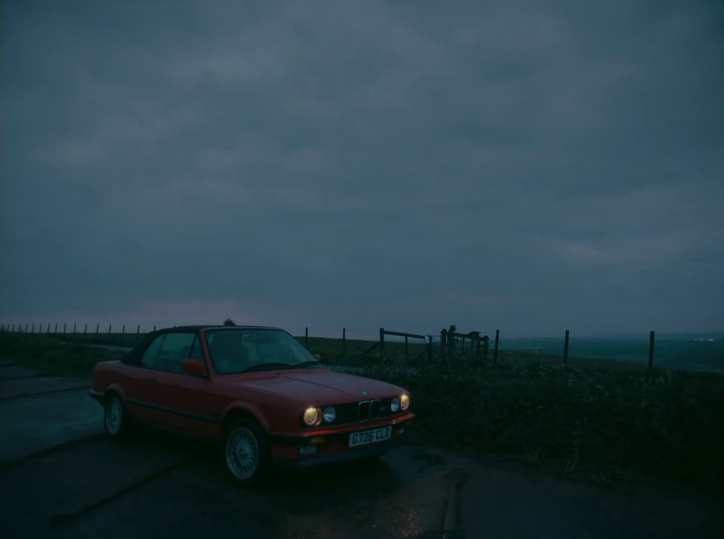
[[[4,0],[2,321],[724,330],[723,21]]]

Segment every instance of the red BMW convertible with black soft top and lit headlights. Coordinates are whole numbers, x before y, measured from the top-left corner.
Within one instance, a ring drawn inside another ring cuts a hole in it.
[[[113,439],[140,422],[222,442],[240,485],[272,465],[380,456],[415,417],[403,388],[333,372],[276,327],[155,331],[125,359],[98,363],[90,396]]]

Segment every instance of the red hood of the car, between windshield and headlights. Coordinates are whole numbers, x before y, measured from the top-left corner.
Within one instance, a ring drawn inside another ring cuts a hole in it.
[[[403,391],[403,388],[397,385],[379,380],[319,368],[294,372],[272,371],[254,377],[235,376],[227,383],[240,388],[256,388],[267,393],[278,393],[309,405],[342,404],[366,398],[391,397]]]

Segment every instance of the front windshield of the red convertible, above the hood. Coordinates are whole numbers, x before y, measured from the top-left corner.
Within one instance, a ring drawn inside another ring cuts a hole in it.
[[[254,370],[252,367],[264,369],[266,364],[269,369],[319,364],[292,335],[281,330],[209,330],[206,343],[214,370],[220,375]]]

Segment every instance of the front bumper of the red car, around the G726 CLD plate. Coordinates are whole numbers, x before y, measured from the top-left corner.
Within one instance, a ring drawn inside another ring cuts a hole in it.
[[[345,428],[304,433],[303,435],[282,435],[268,433],[274,464],[280,467],[306,468],[322,464],[333,464],[355,459],[379,456],[405,441],[405,433],[411,427],[414,414],[405,414],[392,421],[374,424],[345,425]],[[392,426],[392,438],[368,446],[349,447],[350,435],[363,430]],[[300,455],[300,448],[316,446],[316,454]]]

